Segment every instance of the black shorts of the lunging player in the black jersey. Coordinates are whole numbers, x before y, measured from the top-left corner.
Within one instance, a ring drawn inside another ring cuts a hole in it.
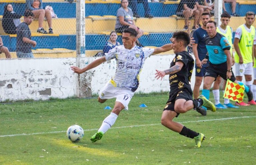
[[[169,97],[169,100],[167,101],[166,106],[164,107],[163,111],[168,110],[168,111],[175,112],[174,104],[175,104],[175,101],[178,99],[185,99],[186,101],[193,100],[191,93],[188,91],[188,89],[185,88],[184,90],[178,91],[178,92],[176,92],[175,95],[171,95]],[[180,113],[177,113],[176,118],[179,116],[179,114]]]

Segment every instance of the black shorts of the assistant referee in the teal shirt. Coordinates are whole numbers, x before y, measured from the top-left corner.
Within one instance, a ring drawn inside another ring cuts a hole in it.
[[[208,66],[206,66],[205,75],[204,77],[214,77],[215,80],[218,76],[222,77],[224,80],[227,80],[227,62],[223,62],[221,64],[212,64],[209,63]],[[231,68],[232,69],[232,68]],[[236,78],[234,76],[233,71],[231,71],[232,76],[230,77],[230,80],[232,82],[236,81]]]

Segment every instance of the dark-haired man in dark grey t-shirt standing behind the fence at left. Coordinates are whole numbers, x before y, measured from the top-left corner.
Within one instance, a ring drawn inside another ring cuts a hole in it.
[[[27,10],[24,13],[24,22],[17,27],[16,54],[18,58],[34,58],[31,46],[36,46],[36,41],[31,40],[29,25],[32,23],[34,14]]]

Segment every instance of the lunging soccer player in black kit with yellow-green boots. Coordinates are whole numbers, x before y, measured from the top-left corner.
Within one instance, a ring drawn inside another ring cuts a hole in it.
[[[192,89],[190,78],[194,67],[193,57],[186,51],[190,42],[189,34],[184,31],[175,32],[172,38],[173,51],[176,54],[172,60],[170,68],[164,71],[156,70],[155,78],[159,79],[169,75],[170,94],[169,100],[163,110],[161,124],[167,128],[178,132],[189,138],[194,138],[196,147],[201,147],[201,142],[205,139],[203,133],[195,132],[186,126],[172,121],[180,113],[185,113],[193,108],[205,106],[207,109],[215,112],[216,108],[213,103],[204,96],[198,99],[192,99]]]

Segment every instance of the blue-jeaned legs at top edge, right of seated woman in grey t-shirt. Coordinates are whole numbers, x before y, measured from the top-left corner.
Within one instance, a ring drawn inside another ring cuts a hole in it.
[[[152,2],[156,2],[156,0],[153,0]],[[143,4],[144,11],[145,11],[145,18],[154,18],[150,14],[150,8],[149,8],[149,5],[148,5],[148,0],[129,0],[129,7],[131,7],[131,9],[132,9],[134,17],[140,18],[139,14],[138,14],[138,10],[137,10],[137,4],[138,3]]]

